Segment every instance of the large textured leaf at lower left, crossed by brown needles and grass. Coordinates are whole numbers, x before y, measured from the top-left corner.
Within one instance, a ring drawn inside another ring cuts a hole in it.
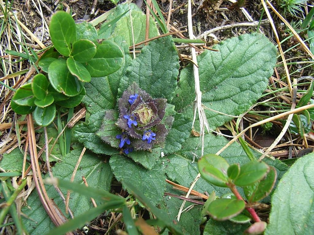
[[[56,163],[52,167],[52,174],[60,179],[70,180],[73,174],[73,169],[81,154],[82,148],[75,149],[67,154],[62,162]],[[74,182],[83,184],[82,176],[85,176],[87,183],[90,187],[110,190],[112,173],[108,163],[105,163],[99,156],[86,151],[79,165]],[[48,175],[49,177],[49,175]],[[66,195],[67,190],[61,189],[63,194]],[[57,193],[53,185],[46,185],[47,194],[54,203],[60,208],[64,215],[65,205],[62,198]],[[99,205],[99,202],[96,201]],[[46,232],[54,227],[45,209],[43,208],[41,201],[38,197],[37,191],[34,190],[27,200],[29,207],[22,209],[23,213],[29,218],[22,217],[24,225],[30,234],[46,234]],[[74,217],[81,215],[87,210],[93,208],[93,204],[89,197],[81,196],[78,193],[71,193],[69,200],[69,208],[74,214]]]

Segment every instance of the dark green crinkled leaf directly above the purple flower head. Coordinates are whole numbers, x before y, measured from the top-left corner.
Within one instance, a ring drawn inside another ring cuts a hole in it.
[[[169,103],[175,95],[178,73],[179,59],[173,40],[170,36],[156,39],[144,46],[132,61],[119,92],[136,82],[153,98],[166,98]]]

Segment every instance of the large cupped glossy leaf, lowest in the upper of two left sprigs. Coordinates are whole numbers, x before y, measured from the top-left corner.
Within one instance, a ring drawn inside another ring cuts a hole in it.
[[[65,60],[58,59],[49,65],[48,78],[51,86],[66,96],[76,96],[83,90],[84,84],[70,73]]]

